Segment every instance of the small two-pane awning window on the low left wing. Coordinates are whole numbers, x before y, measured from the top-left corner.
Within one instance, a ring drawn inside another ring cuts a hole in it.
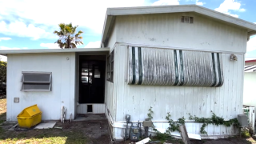
[[[50,91],[51,73],[22,72],[22,91]]]

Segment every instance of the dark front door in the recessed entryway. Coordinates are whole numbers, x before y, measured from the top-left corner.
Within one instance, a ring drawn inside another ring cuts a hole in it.
[[[104,103],[106,61],[80,60],[79,103]]]

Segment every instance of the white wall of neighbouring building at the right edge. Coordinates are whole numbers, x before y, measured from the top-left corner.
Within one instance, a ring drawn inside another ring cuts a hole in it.
[[[244,86],[243,86],[243,104],[247,106],[256,107],[256,97],[254,89],[256,87],[256,73],[245,72],[244,74]]]

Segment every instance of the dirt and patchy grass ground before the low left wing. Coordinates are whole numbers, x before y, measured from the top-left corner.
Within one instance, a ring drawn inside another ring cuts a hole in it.
[[[82,116],[82,115],[81,115]],[[88,117],[85,115],[85,117]],[[90,117],[90,116],[89,116]],[[104,114],[98,114],[97,119],[82,122],[57,122],[47,130],[9,131],[14,123],[6,121],[6,98],[0,98],[0,144],[2,143],[88,143],[109,144],[110,133]],[[54,126],[54,127],[55,127]]]

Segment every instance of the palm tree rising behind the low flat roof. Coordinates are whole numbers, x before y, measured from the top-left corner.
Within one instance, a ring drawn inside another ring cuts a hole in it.
[[[58,43],[58,46],[60,48],[77,48],[76,45],[83,45],[82,42],[82,34],[83,32],[81,30],[76,33],[76,29],[78,26],[72,26],[72,23],[70,24],[65,24],[65,23],[60,23],[59,25],[60,30],[54,31],[54,34],[58,35],[58,41],[54,43]]]

